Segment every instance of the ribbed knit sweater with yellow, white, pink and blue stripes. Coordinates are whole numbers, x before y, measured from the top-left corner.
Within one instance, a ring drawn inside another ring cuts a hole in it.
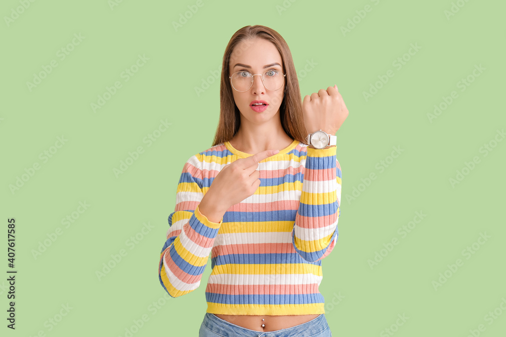
[[[158,276],[172,297],[194,291],[211,257],[207,312],[309,315],[324,311],[321,260],[338,239],[341,166],[336,148],[294,140],[259,163],[254,195],[230,207],[219,223],[198,204],[221,169],[251,156],[222,142],[184,165],[176,209],[160,254]]]

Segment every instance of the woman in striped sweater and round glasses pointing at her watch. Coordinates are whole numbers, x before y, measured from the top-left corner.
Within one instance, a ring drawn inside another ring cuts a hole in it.
[[[211,254],[199,336],[330,336],[318,285],[338,238],[341,94],[328,87],[301,103],[285,40],[256,25],[227,45],[220,98],[213,146],[183,168],[159,280],[172,297],[188,294]]]

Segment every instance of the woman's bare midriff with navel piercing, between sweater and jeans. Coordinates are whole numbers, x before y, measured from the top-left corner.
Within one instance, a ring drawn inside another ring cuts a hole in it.
[[[288,316],[222,315],[222,314],[214,314],[214,315],[229,323],[241,326],[243,328],[264,332],[276,331],[296,326],[299,324],[304,324],[319,316],[319,314],[288,315]]]

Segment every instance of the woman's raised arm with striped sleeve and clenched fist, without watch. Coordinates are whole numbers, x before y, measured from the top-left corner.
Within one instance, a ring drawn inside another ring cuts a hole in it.
[[[335,134],[348,117],[337,86],[306,95],[303,112],[308,133],[321,129]],[[306,261],[315,262],[326,257],[338,239],[341,177],[335,146],[307,147],[301,202],[292,230],[293,247]]]

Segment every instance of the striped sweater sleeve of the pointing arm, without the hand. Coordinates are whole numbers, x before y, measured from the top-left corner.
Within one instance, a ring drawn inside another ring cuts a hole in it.
[[[176,209],[168,216],[170,228],[160,253],[158,278],[172,297],[200,285],[225,213],[213,205],[213,198],[204,196],[201,168],[200,155],[186,162],[177,187]]]

